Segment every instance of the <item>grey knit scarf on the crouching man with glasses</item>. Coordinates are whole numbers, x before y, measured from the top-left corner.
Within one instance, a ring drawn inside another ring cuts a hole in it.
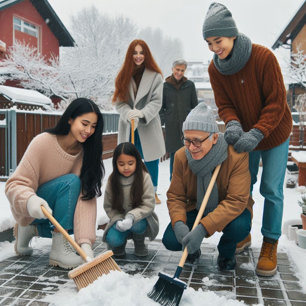
[[[200,210],[202,201],[204,199],[208,184],[211,181],[211,177],[215,170],[215,167],[224,162],[227,158],[227,149],[228,144],[223,137],[223,133],[220,132],[217,143],[214,144],[211,150],[200,160],[193,159],[188,150],[185,149],[189,167],[192,170],[193,174],[198,178],[196,191],[197,210]],[[218,197],[218,186],[217,182],[215,182],[211,190],[211,195],[208,199],[203,216],[207,216],[218,206]]]

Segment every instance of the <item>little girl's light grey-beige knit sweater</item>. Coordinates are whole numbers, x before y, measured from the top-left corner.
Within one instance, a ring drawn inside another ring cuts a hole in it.
[[[147,172],[144,172],[144,194],[142,196],[143,203],[137,208],[132,208],[131,206],[131,188],[132,183],[134,181],[134,174],[129,177],[120,177],[120,182],[123,188],[124,201],[123,201],[123,209],[125,210],[123,213],[119,213],[119,211],[112,209],[111,205],[111,188],[110,188],[110,179],[107,181],[107,185],[104,193],[104,210],[106,215],[110,218],[110,222],[108,222],[104,233],[103,233],[103,241],[106,242],[106,235],[110,227],[116,223],[118,220],[123,220],[125,215],[131,214],[135,218],[135,223],[140,220],[146,218],[148,222],[146,237],[153,241],[158,234],[159,231],[159,222],[156,213],[154,212],[155,207],[155,192],[153,183],[151,181],[151,177]],[[128,236],[128,239],[132,239],[131,234]]]

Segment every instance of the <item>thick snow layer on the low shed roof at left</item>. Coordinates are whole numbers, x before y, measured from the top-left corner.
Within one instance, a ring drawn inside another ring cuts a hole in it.
[[[6,95],[12,102],[32,102],[50,105],[51,99],[38,91],[0,85],[0,94]]]

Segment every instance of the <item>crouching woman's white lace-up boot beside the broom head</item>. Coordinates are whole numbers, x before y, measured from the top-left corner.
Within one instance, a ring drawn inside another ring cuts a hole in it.
[[[61,233],[52,232],[52,247],[49,254],[49,265],[71,269],[81,264],[81,256],[76,255],[74,248]]]

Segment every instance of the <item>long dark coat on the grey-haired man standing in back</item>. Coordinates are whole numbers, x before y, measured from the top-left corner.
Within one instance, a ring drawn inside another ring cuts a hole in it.
[[[161,124],[165,125],[166,152],[176,152],[184,146],[181,142],[183,122],[197,105],[196,87],[192,81],[187,80],[178,90],[169,82],[164,83],[159,115]]]

